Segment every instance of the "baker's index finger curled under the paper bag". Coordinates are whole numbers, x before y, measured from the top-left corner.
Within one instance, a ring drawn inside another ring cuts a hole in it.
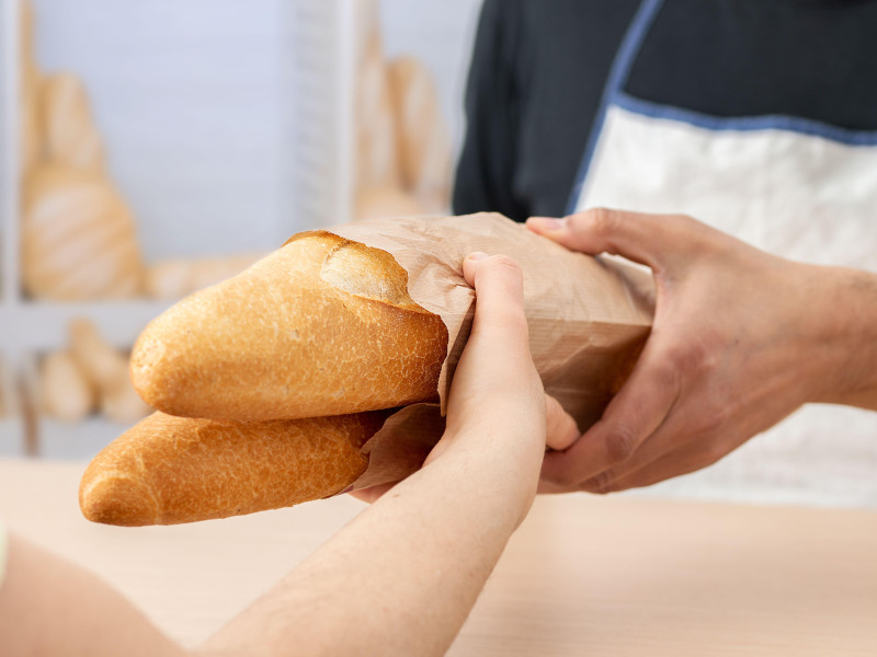
[[[677,395],[672,370],[641,360],[600,422],[569,449],[545,454],[542,479],[578,489],[589,479],[622,465],[661,426]]]

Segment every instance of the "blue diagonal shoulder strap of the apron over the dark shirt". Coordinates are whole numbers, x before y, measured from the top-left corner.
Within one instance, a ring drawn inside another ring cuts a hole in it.
[[[579,165],[579,172],[576,174],[576,184],[572,187],[572,193],[567,204],[567,214],[576,211],[576,206],[579,201],[584,181],[588,177],[588,170],[591,168],[591,160],[594,157],[600,135],[603,131],[603,122],[606,119],[606,113],[610,105],[614,102],[615,97],[620,93],[627,76],[630,73],[630,68],[634,66],[634,60],[639,54],[639,48],[642,45],[642,39],[646,33],[651,27],[658,11],[661,9],[663,0],[643,0],[639,5],[630,26],[627,28],[622,45],[615,54],[615,59],[610,69],[610,76],[606,79],[606,84],[603,88],[603,95],[600,99],[600,110],[597,111],[596,118],[591,126],[591,134],[588,137],[588,146],[584,150],[584,157]]]

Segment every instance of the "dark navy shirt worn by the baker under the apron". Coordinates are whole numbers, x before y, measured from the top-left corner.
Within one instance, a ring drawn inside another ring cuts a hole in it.
[[[454,211],[560,216],[639,0],[486,0]],[[625,87],[714,116],[877,130],[877,1],[665,0]]]

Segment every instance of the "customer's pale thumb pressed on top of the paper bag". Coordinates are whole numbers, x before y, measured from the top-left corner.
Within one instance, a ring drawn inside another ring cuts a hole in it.
[[[503,348],[526,348],[524,275],[505,255],[472,253],[463,262],[463,275],[475,288],[475,322],[470,339],[489,339]]]

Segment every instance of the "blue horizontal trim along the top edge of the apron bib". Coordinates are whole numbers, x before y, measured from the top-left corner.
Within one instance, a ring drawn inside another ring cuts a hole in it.
[[[721,117],[701,114],[692,110],[683,110],[672,105],[661,105],[651,101],[643,101],[619,92],[615,95],[613,104],[643,116],[676,120],[707,130],[753,131],[753,130],[784,130],[798,132],[811,137],[822,137],[847,146],[877,146],[877,130],[850,130],[830,124],[824,124],[809,118],[785,116],[782,114],[766,114],[762,116],[733,116]]]

